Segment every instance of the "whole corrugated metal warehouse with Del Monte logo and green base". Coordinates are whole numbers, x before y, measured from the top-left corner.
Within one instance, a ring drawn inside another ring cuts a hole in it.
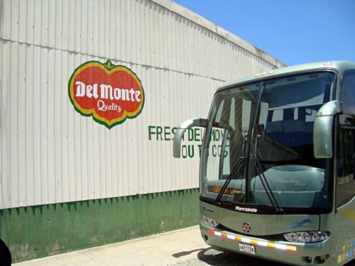
[[[198,222],[222,82],[283,64],[170,0],[0,1],[0,238],[13,262]]]

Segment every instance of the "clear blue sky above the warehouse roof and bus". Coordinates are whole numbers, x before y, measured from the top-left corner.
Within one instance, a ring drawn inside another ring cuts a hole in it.
[[[355,62],[355,0],[173,0],[285,65]]]

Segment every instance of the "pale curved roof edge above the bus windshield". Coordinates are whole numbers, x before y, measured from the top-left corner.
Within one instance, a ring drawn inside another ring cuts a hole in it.
[[[296,72],[313,71],[313,70],[337,70],[344,72],[345,70],[355,70],[355,62],[350,61],[324,61],[312,62],[301,65],[293,65],[290,67],[281,67],[268,72],[254,74],[253,76],[241,77],[231,82],[222,84],[218,90],[226,89],[227,87],[235,87],[236,84],[244,84],[249,82],[257,82],[258,79],[271,79],[284,74],[293,74]]]

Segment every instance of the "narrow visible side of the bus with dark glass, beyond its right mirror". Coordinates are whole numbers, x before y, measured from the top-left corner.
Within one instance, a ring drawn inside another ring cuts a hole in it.
[[[337,149],[337,254],[338,264],[355,258],[355,71],[342,77],[340,101],[344,113],[339,116]]]

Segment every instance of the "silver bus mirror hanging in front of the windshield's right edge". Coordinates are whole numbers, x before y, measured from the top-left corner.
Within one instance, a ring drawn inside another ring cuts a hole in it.
[[[313,147],[316,158],[331,158],[333,156],[333,120],[334,116],[342,111],[343,104],[340,101],[329,101],[317,111],[313,126]]]

